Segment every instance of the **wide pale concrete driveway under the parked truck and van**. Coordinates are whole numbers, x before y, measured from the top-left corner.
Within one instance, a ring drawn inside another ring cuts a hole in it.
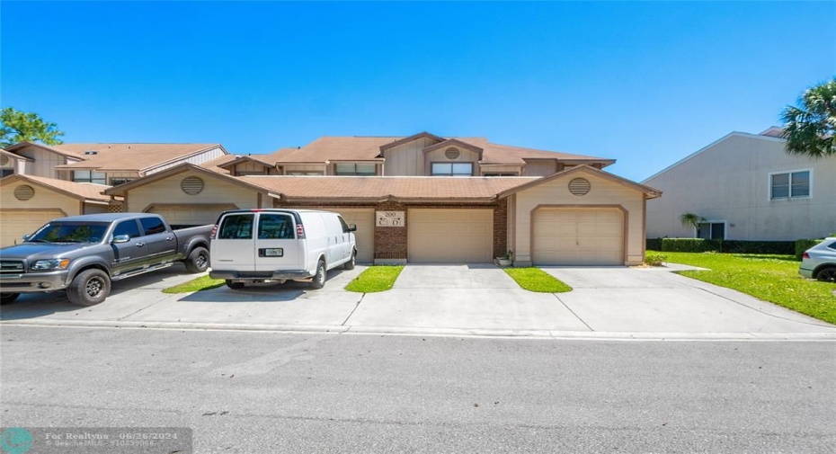
[[[24,295],[3,324],[280,331],[529,335],[577,338],[836,339],[836,326],[658,268],[544,268],[573,287],[533,293],[493,265],[408,265],[394,289],[343,287],[365,267],[329,272],[325,288],[160,290],[195,276],[176,267],[114,283],[95,307],[63,293]]]

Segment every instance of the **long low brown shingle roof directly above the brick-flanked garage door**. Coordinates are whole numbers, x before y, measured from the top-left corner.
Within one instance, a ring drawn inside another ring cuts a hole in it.
[[[409,200],[495,198],[538,177],[423,177],[423,176],[242,176],[241,180],[290,199],[369,199],[389,196]]]

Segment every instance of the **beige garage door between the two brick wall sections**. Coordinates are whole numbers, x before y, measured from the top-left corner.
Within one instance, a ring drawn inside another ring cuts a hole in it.
[[[490,263],[494,258],[493,209],[410,209],[406,229],[410,263]]]

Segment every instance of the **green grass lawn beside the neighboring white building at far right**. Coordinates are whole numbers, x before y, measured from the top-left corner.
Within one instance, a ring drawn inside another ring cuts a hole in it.
[[[800,262],[792,255],[656,253],[669,263],[683,263],[709,271],[680,272],[683,276],[742,291],[793,309],[819,320],[836,324],[836,284],[805,280],[798,274]]]

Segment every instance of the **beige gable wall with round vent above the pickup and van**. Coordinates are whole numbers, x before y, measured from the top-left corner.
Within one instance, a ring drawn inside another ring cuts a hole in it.
[[[203,180],[203,191],[195,195],[182,191],[180,183],[189,176],[197,176]],[[262,200],[264,199],[266,197],[262,198]],[[262,208],[258,206],[258,193],[256,191],[212,178],[207,174],[189,171],[130,189],[126,195],[124,211],[144,211],[151,205],[161,203],[231,203],[240,209]]]

